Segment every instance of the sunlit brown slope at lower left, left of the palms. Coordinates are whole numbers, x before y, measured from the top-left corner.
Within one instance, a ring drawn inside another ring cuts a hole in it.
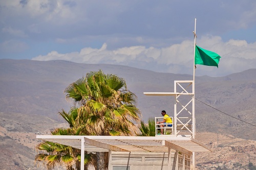
[[[40,115],[1,112],[1,169],[46,169],[34,165],[34,148],[40,142],[36,135],[50,134],[50,130],[65,126],[66,124]]]

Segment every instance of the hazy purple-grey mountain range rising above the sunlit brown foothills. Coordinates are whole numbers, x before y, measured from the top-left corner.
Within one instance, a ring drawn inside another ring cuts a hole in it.
[[[154,72],[121,65],[1,59],[2,147],[3,143],[27,141],[26,139],[35,143],[37,133],[49,133],[54,127],[67,126],[63,124],[58,111],[69,111],[73,103],[66,100],[63,91],[69,84],[85,77],[88,72],[99,69],[105,74],[115,74],[125,79],[127,89],[137,95],[137,107],[141,110],[141,118],[145,122],[148,117],[160,116],[161,110],[166,110],[172,116],[174,99],[172,96],[146,96],[143,92],[173,92],[175,80],[193,79],[191,75]],[[256,140],[256,69],[225,77],[196,76],[195,91],[197,132]],[[16,137],[8,135],[9,132],[15,132]],[[26,136],[29,133],[31,136]],[[26,148],[25,143],[22,145]],[[7,150],[8,147],[4,148]],[[17,149],[14,147],[13,150]],[[33,157],[27,156],[30,159]],[[16,162],[20,163],[22,162]]]

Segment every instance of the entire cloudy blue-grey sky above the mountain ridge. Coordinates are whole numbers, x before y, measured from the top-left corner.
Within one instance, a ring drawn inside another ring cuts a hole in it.
[[[193,75],[195,18],[197,45],[222,57],[196,76],[256,68],[255,0],[2,0],[0,59]]]

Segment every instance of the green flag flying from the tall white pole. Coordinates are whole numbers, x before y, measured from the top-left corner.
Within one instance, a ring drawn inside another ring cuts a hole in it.
[[[219,56],[217,53],[204,50],[203,48],[196,45],[195,64],[218,67],[220,58],[221,56]]]

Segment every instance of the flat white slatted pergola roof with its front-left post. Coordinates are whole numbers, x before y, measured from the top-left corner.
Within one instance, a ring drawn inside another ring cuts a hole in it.
[[[84,151],[87,152],[170,152],[176,150],[186,155],[210,152],[211,149],[192,137],[183,136],[66,136],[37,135],[37,139],[68,145],[81,150],[81,169]]]

